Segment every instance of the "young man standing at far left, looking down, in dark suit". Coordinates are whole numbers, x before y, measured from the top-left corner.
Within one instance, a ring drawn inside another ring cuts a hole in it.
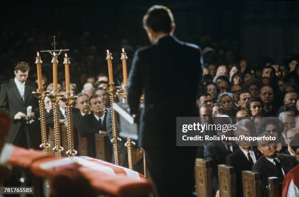
[[[27,80],[29,70],[26,62],[19,62],[15,66],[16,77],[3,84],[0,90],[0,110],[7,111],[11,120],[8,142],[23,148],[34,148],[39,134],[34,133],[33,124],[28,124],[26,116],[28,106],[32,106],[33,117],[38,110],[38,100],[31,93],[36,91],[37,85]]]

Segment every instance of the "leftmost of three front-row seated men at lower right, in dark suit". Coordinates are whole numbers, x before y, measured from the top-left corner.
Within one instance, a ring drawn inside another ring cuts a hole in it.
[[[232,120],[227,115],[221,115],[214,119],[215,125],[232,124]],[[217,135],[221,137],[232,136],[232,131],[217,131]],[[204,147],[204,157],[212,165],[212,184],[214,194],[218,191],[218,170],[217,166],[226,163],[226,157],[238,149],[237,145],[230,141],[211,141]]]

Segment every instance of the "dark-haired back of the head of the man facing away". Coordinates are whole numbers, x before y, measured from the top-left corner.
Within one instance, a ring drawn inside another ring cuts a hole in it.
[[[174,19],[171,10],[163,5],[150,7],[143,17],[143,27],[150,28],[156,33],[171,33],[172,25],[174,25]]]

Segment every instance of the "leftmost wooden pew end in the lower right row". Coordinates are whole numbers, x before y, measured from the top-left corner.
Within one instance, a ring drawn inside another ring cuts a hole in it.
[[[198,197],[212,197],[212,167],[205,159],[196,159],[195,162],[196,192]]]

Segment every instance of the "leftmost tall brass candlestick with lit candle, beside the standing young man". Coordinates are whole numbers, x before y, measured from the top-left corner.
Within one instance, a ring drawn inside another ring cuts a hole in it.
[[[50,145],[47,142],[47,129],[46,129],[46,120],[45,120],[45,106],[44,106],[44,98],[47,94],[46,91],[43,90],[42,84],[42,60],[39,52],[37,52],[37,58],[35,64],[37,65],[37,73],[38,73],[38,84],[39,88],[32,92],[35,97],[39,99],[39,108],[40,108],[40,118],[41,118],[41,134],[42,134],[42,144],[40,148],[43,149],[43,153],[48,153],[48,149]]]

